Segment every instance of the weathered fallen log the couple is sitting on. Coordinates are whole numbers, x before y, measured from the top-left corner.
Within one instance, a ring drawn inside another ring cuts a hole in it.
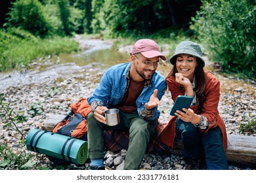
[[[52,131],[53,127],[64,119],[64,115],[49,116],[41,124],[41,129],[45,131]],[[181,141],[175,141],[176,148],[168,148],[172,154],[182,155],[183,144]],[[232,163],[242,165],[256,166],[256,137],[244,135],[228,135],[228,150],[226,152],[226,159]]]

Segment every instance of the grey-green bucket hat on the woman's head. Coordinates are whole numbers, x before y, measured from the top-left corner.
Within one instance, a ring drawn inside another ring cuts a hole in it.
[[[179,54],[189,54],[192,56],[196,56],[198,58],[198,61],[200,61],[200,64],[202,65],[202,67],[205,66],[205,61],[202,59],[202,50],[199,44],[197,44],[196,42],[192,42],[192,41],[180,42],[180,44],[176,46],[175,54],[173,54],[173,56],[171,56],[171,58],[169,59],[171,64],[174,65],[176,61],[176,57]]]

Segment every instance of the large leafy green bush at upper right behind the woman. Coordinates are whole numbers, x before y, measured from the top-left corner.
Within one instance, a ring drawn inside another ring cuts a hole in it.
[[[255,1],[209,1],[203,5],[191,29],[224,71],[255,76]]]

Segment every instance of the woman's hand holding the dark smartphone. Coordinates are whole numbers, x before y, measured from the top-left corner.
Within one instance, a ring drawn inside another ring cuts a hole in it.
[[[183,120],[184,122],[191,122],[192,124],[198,124],[201,120],[201,116],[194,113],[194,110],[191,108],[182,108],[184,112],[181,110],[177,110],[174,114]]]

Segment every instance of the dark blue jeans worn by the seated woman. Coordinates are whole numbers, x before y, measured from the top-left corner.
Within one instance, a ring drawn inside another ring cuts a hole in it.
[[[192,123],[177,118],[176,134],[177,137],[182,139],[184,157],[191,159],[202,159],[204,157],[209,170],[228,169],[219,127],[209,129],[207,133],[203,133]]]

